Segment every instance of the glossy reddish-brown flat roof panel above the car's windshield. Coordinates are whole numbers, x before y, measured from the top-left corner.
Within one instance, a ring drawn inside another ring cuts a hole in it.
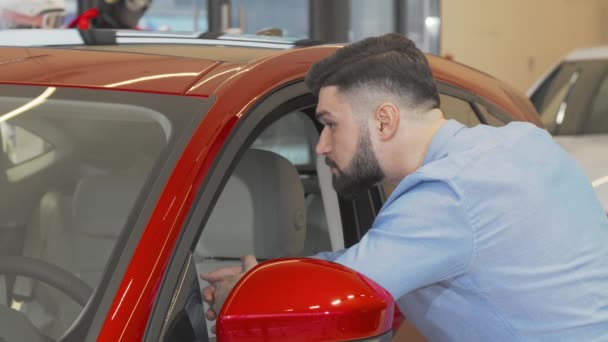
[[[183,94],[219,62],[68,49],[3,49],[2,83]]]

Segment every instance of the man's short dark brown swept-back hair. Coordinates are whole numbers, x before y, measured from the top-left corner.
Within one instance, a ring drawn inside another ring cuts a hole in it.
[[[340,92],[377,88],[393,92],[411,107],[439,107],[439,94],[426,57],[410,39],[396,33],[370,37],[338,49],[306,75],[315,96],[322,87]]]

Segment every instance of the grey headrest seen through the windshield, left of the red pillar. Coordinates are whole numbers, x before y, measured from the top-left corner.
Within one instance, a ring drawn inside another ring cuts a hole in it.
[[[74,227],[86,234],[117,237],[133,209],[144,175],[83,177],[72,198]]]

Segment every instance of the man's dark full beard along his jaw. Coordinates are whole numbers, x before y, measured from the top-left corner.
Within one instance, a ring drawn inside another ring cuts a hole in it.
[[[372,150],[367,127],[363,127],[360,133],[359,148],[344,170],[340,170],[333,160],[325,158],[325,163],[337,171],[332,175],[334,189],[346,199],[354,199],[384,179],[384,172]]]

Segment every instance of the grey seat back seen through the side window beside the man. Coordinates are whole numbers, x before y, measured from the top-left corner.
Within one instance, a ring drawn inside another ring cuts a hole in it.
[[[222,190],[195,254],[296,256],[305,239],[306,204],[298,171],[276,153],[250,149]]]

